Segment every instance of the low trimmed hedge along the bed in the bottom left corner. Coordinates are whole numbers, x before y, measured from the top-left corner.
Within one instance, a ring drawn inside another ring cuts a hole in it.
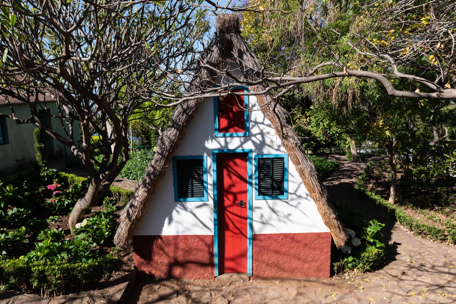
[[[23,292],[34,290],[43,296],[67,294],[109,279],[116,263],[117,258],[110,254],[88,263],[4,259],[0,260],[0,284]]]

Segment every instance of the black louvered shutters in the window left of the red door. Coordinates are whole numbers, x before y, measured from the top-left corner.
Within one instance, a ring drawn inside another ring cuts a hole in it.
[[[180,159],[177,166],[177,197],[204,197],[202,159]]]

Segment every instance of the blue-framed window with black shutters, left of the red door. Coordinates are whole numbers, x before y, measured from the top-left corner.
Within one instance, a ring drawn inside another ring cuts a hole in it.
[[[206,155],[172,158],[175,202],[207,202],[206,159]]]

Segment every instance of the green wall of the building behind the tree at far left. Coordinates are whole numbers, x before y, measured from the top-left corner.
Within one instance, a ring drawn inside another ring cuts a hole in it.
[[[51,114],[57,114],[57,106],[54,102],[47,102],[46,106],[51,110]],[[30,118],[30,108],[28,105],[15,104],[13,107],[17,117]],[[38,109],[39,108],[40,106],[38,106]],[[0,105],[0,113],[11,114],[10,106]],[[5,118],[4,123],[6,123],[8,143],[0,145],[0,175],[26,169],[36,162],[36,151],[33,147],[33,144],[35,143],[33,139],[33,130],[35,130],[36,127],[32,124],[18,125],[9,118]],[[52,128],[62,136],[67,137],[59,119],[52,118]],[[74,138],[74,140],[77,141],[80,138],[77,124],[75,124],[73,130],[77,133]],[[52,144],[55,156],[65,155],[65,147],[62,143],[53,139]],[[67,153],[69,153],[69,151]]]

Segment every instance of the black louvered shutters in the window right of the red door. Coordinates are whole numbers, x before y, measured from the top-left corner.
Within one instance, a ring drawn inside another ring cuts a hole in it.
[[[258,195],[276,196],[284,194],[284,158],[258,158]]]

